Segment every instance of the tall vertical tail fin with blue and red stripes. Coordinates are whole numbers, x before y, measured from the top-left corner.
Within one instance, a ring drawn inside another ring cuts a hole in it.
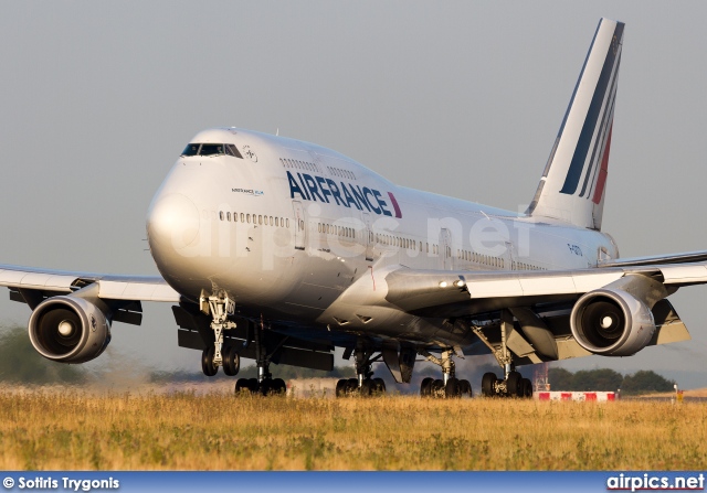
[[[623,28],[622,22],[599,21],[545,173],[528,207],[532,216],[601,229]]]

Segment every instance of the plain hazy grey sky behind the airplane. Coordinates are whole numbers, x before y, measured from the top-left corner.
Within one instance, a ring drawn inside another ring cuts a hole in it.
[[[602,229],[624,257],[707,249],[706,14],[679,1],[8,2],[0,262],[156,275],[147,207],[191,137],[218,126],[525,210],[601,17],[626,23]],[[706,298],[671,297],[689,343],[563,366],[694,381]],[[107,357],[199,372],[169,306],[144,308],[141,326],[114,325]],[[29,315],[0,292],[0,324]]]

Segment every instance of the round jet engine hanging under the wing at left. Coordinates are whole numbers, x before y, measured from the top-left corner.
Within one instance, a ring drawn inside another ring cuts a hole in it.
[[[32,312],[30,341],[44,357],[62,363],[85,363],[110,342],[110,322],[89,301],[60,296],[42,301]]]

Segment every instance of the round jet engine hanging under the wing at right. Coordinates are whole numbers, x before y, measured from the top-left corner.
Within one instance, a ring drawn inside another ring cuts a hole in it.
[[[631,356],[644,349],[656,331],[648,306],[611,285],[577,301],[570,328],[579,345],[605,356]]]

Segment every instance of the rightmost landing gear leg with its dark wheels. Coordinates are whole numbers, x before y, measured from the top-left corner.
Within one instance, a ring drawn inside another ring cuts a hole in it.
[[[482,377],[482,395],[484,397],[532,397],[532,383],[516,372],[513,355],[507,346],[508,335],[513,331],[513,315],[508,310],[500,312],[500,349],[493,345],[483,333],[483,328],[473,326],[472,330],[490,349],[496,361],[504,368],[504,378],[499,379],[495,373],[485,373]]]

